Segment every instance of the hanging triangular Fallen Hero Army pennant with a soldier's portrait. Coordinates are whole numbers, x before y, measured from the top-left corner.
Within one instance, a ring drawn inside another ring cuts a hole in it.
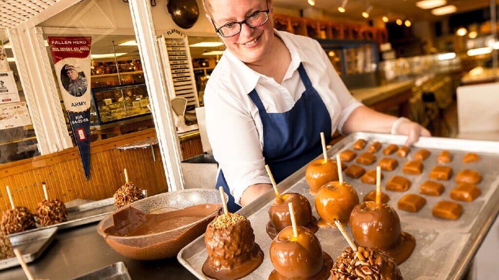
[[[64,107],[80,152],[87,180],[90,178],[90,46],[91,37],[48,37]]]

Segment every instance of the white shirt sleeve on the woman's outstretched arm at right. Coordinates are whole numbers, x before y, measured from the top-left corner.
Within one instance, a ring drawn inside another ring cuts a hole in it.
[[[326,61],[326,72],[329,77],[329,87],[336,94],[338,102],[341,106],[341,114],[338,123],[338,132],[342,134],[343,125],[350,117],[350,114],[360,106],[363,106],[362,103],[357,101],[350,91],[345,86],[345,83],[341,80],[340,76],[334,69],[332,63],[329,63],[329,57],[324,52],[324,49],[317,43],[319,47],[319,52],[322,53],[324,61]]]

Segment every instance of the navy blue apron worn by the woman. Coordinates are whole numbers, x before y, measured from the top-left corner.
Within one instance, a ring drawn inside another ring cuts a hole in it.
[[[263,156],[275,182],[279,183],[296,170],[322,153],[320,133],[324,132],[326,142],[331,140],[331,117],[324,102],[313,88],[303,65],[298,67],[305,92],[291,110],[284,113],[267,113],[256,90],[250,92],[250,99],[258,109],[263,125]],[[217,188],[224,187],[229,195],[227,206],[232,213],[241,209],[234,202],[229,185],[220,170]]]

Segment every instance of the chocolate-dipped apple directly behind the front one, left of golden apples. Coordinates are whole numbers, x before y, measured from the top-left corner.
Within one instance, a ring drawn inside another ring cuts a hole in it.
[[[317,219],[312,216],[310,202],[299,193],[285,193],[282,199],[276,198],[268,209],[266,232],[270,238],[275,238],[277,233],[285,227],[291,226],[291,216],[289,214],[288,203],[293,203],[296,225],[308,228],[311,232],[317,232]]]

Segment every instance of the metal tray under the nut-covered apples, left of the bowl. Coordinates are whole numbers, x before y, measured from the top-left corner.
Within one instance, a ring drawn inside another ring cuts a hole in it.
[[[147,190],[142,190],[144,195],[147,197]],[[51,226],[39,226],[35,229],[10,234],[9,237],[23,235],[39,230],[58,228],[67,229],[73,228],[81,225],[90,224],[93,222],[98,222],[109,213],[116,210],[114,206],[114,197],[88,202],[82,205],[72,206],[67,208],[67,221],[58,223]]]

